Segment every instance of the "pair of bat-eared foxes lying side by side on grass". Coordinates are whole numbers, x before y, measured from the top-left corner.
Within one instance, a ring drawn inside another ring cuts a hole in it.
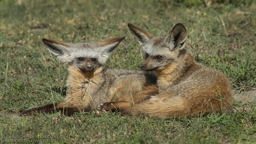
[[[64,101],[24,110],[22,116],[59,112],[119,111],[126,116],[159,119],[230,111],[233,92],[220,71],[195,61],[183,48],[187,31],[176,24],[167,36],[154,36],[130,23],[145,52],[143,70],[108,69],[109,53],[125,37],[102,42],[64,43],[43,38],[45,46],[68,67]],[[154,71],[155,73],[149,72]]]

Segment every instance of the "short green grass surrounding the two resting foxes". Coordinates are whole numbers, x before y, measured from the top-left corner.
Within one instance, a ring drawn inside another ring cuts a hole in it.
[[[185,46],[196,60],[223,71],[234,89],[255,88],[255,2],[190,4],[195,7],[186,7],[185,2],[177,6],[178,2],[1,0],[0,111],[13,113],[64,100],[67,69],[44,47],[44,37],[85,42],[126,36],[106,67],[139,68],[143,51],[128,22],[155,35],[166,35],[174,24],[183,23],[188,32]],[[0,140],[4,135],[59,135],[60,143],[256,142],[256,101],[236,101],[235,107],[235,113],[171,120],[128,119],[109,112],[107,117],[78,113],[74,120],[61,114],[5,117],[0,120]],[[243,108],[250,110],[245,113]]]

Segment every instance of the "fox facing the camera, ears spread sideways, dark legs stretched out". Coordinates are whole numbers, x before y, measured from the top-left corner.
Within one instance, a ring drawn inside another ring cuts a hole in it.
[[[109,53],[124,38],[75,44],[43,38],[45,46],[68,67],[67,96],[65,101],[24,110],[20,115],[61,111],[70,116],[80,110],[95,110],[97,104],[108,101],[130,107],[158,93],[155,74],[104,68]]]

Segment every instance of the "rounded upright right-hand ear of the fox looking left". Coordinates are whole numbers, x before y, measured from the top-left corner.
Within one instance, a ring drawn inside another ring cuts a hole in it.
[[[176,24],[164,40],[164,44],[170,48],[170,51],[183,46],[187,37],[187,30],[182,23]]]

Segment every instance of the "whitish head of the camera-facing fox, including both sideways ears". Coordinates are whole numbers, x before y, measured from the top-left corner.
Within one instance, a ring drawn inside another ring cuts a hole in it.
[[[103,67],[108,55],[125,37],[116,37],[103,42],[64,43],[43,38],[44,45],[67,66],[74,66],[83,73]]]

